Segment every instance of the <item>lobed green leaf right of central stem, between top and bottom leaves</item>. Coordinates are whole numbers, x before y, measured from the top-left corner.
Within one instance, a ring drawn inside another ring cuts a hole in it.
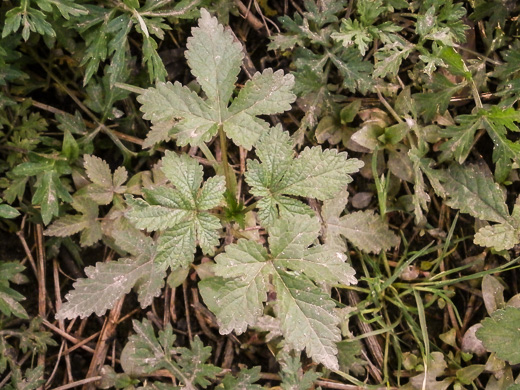
[[[290,217],[312,213],[303,203],[283,195],[332,198],[352,181],[350,174],[363,166],[357,159],[347,159],[346,153],[323,151],[320,147],[306,148],[293,159],[289,135],[281,127],[264,133],[256,152],[260,161],[248,160],[245,176],[251,193],[263,197],[258,203],[258,215],[266,227],[278,214]]]

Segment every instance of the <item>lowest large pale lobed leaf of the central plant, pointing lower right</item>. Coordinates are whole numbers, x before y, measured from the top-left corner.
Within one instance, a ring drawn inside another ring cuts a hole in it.
[[[353,268],[337,248],[316,245],[320,223],[310,216],[278,219],[269,230],[269,251],[240,239],[215,258],[216,276],[200,284],[220,332],[244,332],[264,315],[273,291],[275,312],[287,345],[337,369],[340,340],[334,301],[316,283],[355,284]]]

